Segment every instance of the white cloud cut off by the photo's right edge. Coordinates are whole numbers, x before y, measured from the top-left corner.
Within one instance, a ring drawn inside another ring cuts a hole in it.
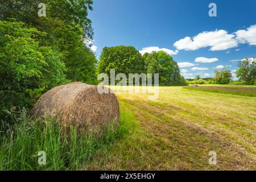
[[[251,46],[256,46],[256,24],[246,28],[246,30],[238,30],[235,34],[240,43],[249,43]]]

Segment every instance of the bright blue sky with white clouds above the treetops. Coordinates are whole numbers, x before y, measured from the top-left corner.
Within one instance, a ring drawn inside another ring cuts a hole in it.
[[[216,3],[217,17],[208,15],[209,3]],[[93,8],[97,57],[103,47],[119,45],[142,53],[164,49],[193,78],[212,77],[220,65],[235,71],[237,60],[256,56],[254,0],[94,0]]]

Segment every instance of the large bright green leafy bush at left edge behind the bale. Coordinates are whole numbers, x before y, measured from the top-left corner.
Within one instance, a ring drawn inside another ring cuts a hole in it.
[[[0,21],[0,117],[11,106],[31,107],[44,91],[66,81],[60,53],[39,46],[44,35],[23,22]]]

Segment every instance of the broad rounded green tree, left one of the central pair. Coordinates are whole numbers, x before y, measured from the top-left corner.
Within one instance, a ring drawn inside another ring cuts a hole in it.
[[[97,67],[98,73],[107,73],[115,69],[115,74],[143,73],[144,63],[141,53],[133,46],[104,47]]]

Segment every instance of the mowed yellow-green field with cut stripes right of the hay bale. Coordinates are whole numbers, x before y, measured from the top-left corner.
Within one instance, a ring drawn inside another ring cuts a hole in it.
[[[159,90],[158,100],[117,93],[129,132],[98,151],[85,170],[256,169],[256,97]],[[209,164],[210,151],[216,165]]]

